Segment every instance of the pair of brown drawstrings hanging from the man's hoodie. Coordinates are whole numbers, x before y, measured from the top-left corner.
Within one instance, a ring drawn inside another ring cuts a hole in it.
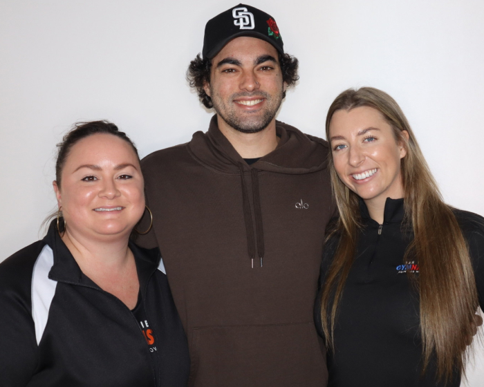
[[[254,227],[252,225],[252,214],[250,211],[249,196],[247,193],[247,185],[245,185],[244,178],[244,167],[241,162],[239,162],[239,169],[241,171],[241,182],[242,182],[242,204],[243,204],[243,217],[245,220],[245,232],[247,233],[247,250],[249,253],[249,258],[252,261],[252,268],[254,268],[254,256],[255,256],[255,240],[254,240]],[[254,214],[255,223],[257,230],[257,251],[259,252],[259,258],[262,261],[264,256],[264,235],[263,235],[263,225],[262,225],[262,212],[261,212],[261,200],[259,196],[259,176],[257,169],[252,169],[252,195],[254,198]]]

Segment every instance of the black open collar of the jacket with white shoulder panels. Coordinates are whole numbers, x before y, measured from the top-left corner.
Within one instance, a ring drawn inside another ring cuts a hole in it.
[[[50,246],[54,255],[54,265],[48,274],[49,279],[100,289],[89,277],[84,275],[79,265],[77,265],[73,255],[57,232],[55,220],[50,223],[44,242]],[[158,248],[143,249],[131,241],[129,242],[129,248],[133,252],[136,261],[140,290],[145,290],[151,274],[153,274],[160,263],[160,252]]]

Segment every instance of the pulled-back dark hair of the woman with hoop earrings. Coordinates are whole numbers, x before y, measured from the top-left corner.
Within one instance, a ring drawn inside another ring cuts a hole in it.
[[[126,133],[120,131],[118,126],[115,126],[112,122],[102,120],[102,121],[91,121],[91,122],[76,122],[73,128],[64,135],[62,142],[57,144],[57,160],[55,162],[55,180],[57,181],[57,186],[61,186],[61,175],[62,169],[66,164],[67,157],[71,152],[72,147],[82,140],[83,138],[89,137],[93,134],[106,133],[112,134],[116,137],[126,141],[133,148],[138,161],[140,156],[138,155],[138,149],[136,149],[135,144],[130,140]]]

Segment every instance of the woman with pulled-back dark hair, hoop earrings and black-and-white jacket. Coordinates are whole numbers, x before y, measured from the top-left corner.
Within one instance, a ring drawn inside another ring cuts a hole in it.
[[[136,147],[104,121],[57,147],[57,218],[0,264],[0,385],[186,386],[160,252],[129,241],[145,211]]]

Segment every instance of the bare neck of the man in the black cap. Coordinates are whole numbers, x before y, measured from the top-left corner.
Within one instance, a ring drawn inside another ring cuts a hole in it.
[[[272,120],[265,129],[257,133],[242,133],[228,125],[219,115],[218,129],[229,140],[241,158],[261,158],[274,151],[279,138],[276,135],[276,120]]]

